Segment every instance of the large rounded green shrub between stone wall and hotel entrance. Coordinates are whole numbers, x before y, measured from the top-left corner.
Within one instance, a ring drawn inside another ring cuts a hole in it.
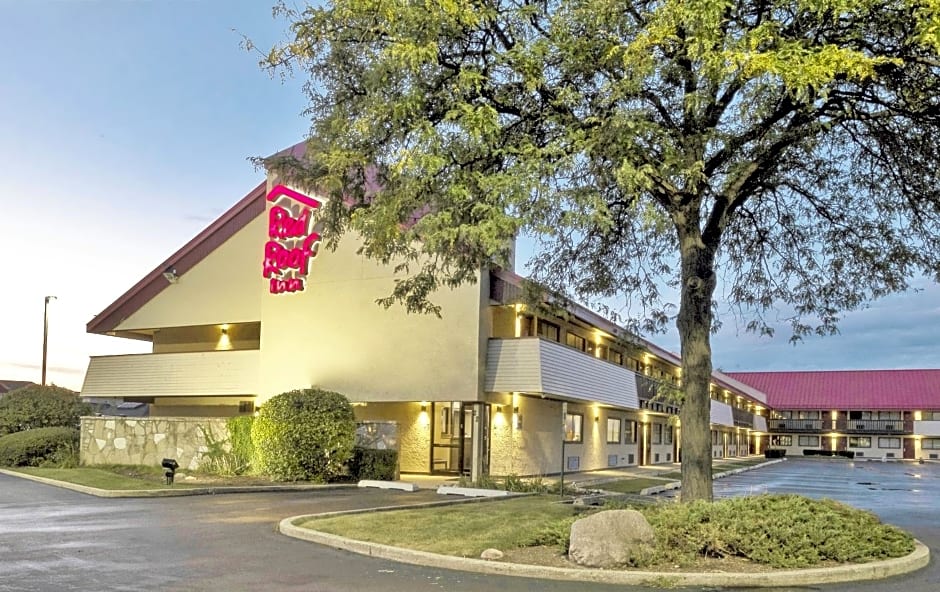
[[[255,468],[281,481],[328,481],[352,456],[356,424],[343,395],[319,389],[282,393],[251,427]]]

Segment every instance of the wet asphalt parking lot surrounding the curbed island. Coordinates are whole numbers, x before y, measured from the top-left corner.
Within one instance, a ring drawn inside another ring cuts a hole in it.
[[[940,553],[940,465],[795,459],[715,482],[719,497],[765,491],[830,497],[870,509]],[[439,497],[431,491],[334,490],[103,499],[0,475],[0,591],[648,590],[409,566],[275,531],[286,516]],[[770,590],[901,589],[940,590],[937,560],[891,580]]]

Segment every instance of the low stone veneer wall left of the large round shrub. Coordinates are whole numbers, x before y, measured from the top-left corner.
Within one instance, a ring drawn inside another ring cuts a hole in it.
[[[225,418],[218,417],[83,417],[82,465],[160,466],[175,458],[181,469],[199,468],[208,450],[206,433],[228,440]]]

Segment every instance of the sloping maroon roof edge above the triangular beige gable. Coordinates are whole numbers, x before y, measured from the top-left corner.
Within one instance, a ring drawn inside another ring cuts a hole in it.
[[[140,310],[144,304],[170,285],[170,281],[163,275],[164,272],[172,269],[177,276],[182,276],[249,222],[263,214],[266,187],[267,181],[262,181],[231,209],[219,216],[215,222],[183,245],[180,250],[170,255],[166,261],[134,284],[110,306],[95,315],[95,318],[88,322],[86,330],[89,333],[113,331],[124,319]]]

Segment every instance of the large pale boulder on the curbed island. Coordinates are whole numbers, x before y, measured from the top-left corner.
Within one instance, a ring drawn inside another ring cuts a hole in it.
[[[636,510],[607,510],[571,525],[568,557],[585,567],[617,567],[629,563],[639,547],[653,543],[653,529]]]

